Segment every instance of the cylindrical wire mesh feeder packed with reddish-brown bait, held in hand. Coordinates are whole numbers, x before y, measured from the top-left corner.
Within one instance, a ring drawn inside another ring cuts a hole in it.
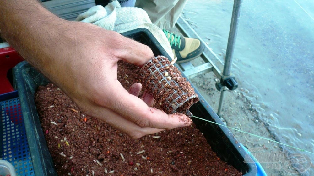
[[[198,95],[168,58],[157,56],[149,60],[141,68],[140,76],[146,90],[165,113],[192,117],[189,108],[198,102]]]

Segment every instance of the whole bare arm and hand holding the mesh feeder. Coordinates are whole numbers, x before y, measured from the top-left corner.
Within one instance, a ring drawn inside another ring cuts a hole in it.
[[[183,114],[150,107],[153,98],[147,93],[143,100],[138,98],[140,83],[127,91],[117,80],[119,60],[142,66],[154,57],[146,45],[93,24],[58,18],[35,0],[1,0],[0,30],[85,113],[132,138],[192,123]]]

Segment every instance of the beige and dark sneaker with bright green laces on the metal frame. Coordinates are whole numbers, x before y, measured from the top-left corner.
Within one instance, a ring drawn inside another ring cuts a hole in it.
[[[204,44],[196,38],[175,35],[163,29],[170,43],[176,63],[184,63],[199,57],[204,51]]]

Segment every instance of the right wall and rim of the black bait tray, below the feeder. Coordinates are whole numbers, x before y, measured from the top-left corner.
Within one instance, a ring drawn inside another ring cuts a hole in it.
[[[193,84],[192,87],[195,88]],[[205,99],[197,90],[196,93],[198,94],[200,101],[192,105],[190,108],[192,114],[196,117],[224,125],[219,116],[214,112],[211,106],[205,101]],[[204,112],[207,112],[207,114]],[[240,142],[235,138],[235,136],[227,127],[206,122],[198,118],[192,118],[192,120],[196,127],[203,133],[213,151],[220,158],[222,158],[222,160],[226,161],[229,165],[234,166],[246,176],[257,175],[256,164],[244,163],[244,158],[247,152],[240,146]]]

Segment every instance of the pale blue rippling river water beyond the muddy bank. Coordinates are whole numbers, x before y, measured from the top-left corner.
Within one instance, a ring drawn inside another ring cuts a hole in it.
[[[190,0],[183,11],[221,60],[232,7],[231,0]],[[231,72],[282,143],[314,152],[314,1],[243,0]],[[284,149],[314,163],[311,153]]]

